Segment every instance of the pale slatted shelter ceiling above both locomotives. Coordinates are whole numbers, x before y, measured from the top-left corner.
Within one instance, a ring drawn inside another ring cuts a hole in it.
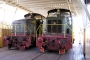
[[[51,9],[69,9],[72,15],[82,13],[82,6],[78,0],[3,0],[7,4],[17,6],[28,12],[34,12],[47,16]],[[2,1],[0,2],[0,4]]]

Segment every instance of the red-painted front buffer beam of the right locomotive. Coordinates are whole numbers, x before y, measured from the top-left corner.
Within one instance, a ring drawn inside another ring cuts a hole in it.
[[[64,41],[64,42],[63,42]],[[38,37],[36,46],[41,48],[43,47],[46,50],[59,51],[62,49],[69,50],[72,48],[72,36],[66,35],[57,35],[57,34],[45,34]]]

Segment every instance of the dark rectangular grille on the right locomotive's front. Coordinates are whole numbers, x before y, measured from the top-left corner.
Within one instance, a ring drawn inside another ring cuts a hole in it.
[[[61,20],[48,20],[47,21],[47,32],[48,33],[61,33],[62,30],[62,23]]]

